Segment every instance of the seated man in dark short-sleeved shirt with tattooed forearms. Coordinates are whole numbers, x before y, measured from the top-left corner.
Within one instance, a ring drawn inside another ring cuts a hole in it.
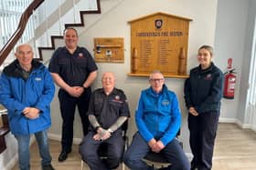
[[[102,75],[102,88],[91,95],[87,115],[91,123],[89,134],[80,144],[80,155],[91,170],[116,168],[123,155],[122,125],[130,116],[129,106],[123,91],[114,87],[112,73]],[[102,144],[108,145],[107,159],[102,161],[98,149]]]

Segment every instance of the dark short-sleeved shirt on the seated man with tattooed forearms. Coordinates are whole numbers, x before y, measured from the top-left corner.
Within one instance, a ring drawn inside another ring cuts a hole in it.
[[[91,95],[87,115],[95,115],[104,129],[109,128],[120,116],[130,117],[126,95],[117,88],[110,95],[106,95],[103,88],[95,90]],[[94,131],[92,126],[90,130]]]

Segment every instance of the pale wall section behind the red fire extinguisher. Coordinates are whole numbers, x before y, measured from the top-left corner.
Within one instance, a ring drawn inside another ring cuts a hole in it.
[[[228,65],[227,59],[232,58],[233,67],[237,72],[235,99],[222,99],[220,120],[225,122],[243,124],[249,75],[248,58],[250,57],[249,54],[244,54],[247,42],[245,37],[248,7],[248,0],[221,0],[218,2],[215,62],[225,72]]]

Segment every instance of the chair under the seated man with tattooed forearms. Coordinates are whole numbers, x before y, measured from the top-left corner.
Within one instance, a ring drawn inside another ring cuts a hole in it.
[[[122,135],[123,135],[123,141],[124,141],[124,145],[123,145],[123,153],[124,151],[127,149],[128,147],[128,136],[126,135],[127,133],[127,129],[128,129],[128,119],[123,123],[122,125]],[[107,146],[105,144],[102,144],[99,149],[98,149],[98,155],[100,155],[101,159],[106,159],[107,158]],[[122,163],[122,170],[124,170],[125,165],[123,164],[123,158],[121,159],[121,163]],[[81,159],[80,162],[80,170],[83,170],[83,166],[84,166],[85,162]]]

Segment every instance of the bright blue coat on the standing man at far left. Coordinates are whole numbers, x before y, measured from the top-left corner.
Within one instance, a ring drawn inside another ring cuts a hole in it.
[[[0,103],[8,111],[9,125],[14,135],[28,135],[51,125],[50,102],[55,86],[48,69],[37,61],[32,62],[32,71],[24,79],[17,60],[5,67],[0,77]],[[36,119],[28,119],[22,111],[25,107],[40,110]]]

